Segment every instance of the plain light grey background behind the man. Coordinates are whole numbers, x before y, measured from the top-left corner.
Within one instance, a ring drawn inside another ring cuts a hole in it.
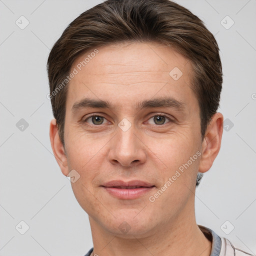
[[[92,246],[88,216],[50,146],[46,60],[64,28],[100,2],[0,0],[0,255],[84,255]],[[176,2],[215,35],[224,73],[219,111],[226,130],[196,189],[196,220],[255,254],[256,1]],[[29,21],[24,29],[15,23],[21,15]],[[24,234],[21,220],[29,226]]]

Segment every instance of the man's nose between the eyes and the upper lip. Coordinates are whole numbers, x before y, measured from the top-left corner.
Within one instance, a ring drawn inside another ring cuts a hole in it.
[[[146,159],[146,146],[138,132],[131,125],[127,130],[117,127],[115,136],[110,140],[108,160],[115,165],[134,167]]]

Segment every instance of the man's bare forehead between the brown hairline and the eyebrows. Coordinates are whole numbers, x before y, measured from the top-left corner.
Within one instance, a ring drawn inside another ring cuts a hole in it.
[[[74,69],[77,74],[70,80],[67,93],[70,109],[74,101],[88,96],[114,100],[112,103],[117,106],[120,101],[133,104],[133,100],[154,95],[170,94],[179,101],[194,97],[190,88],[190,61],[169,46],[156,42],[101,46],[78,57],[71,71]]]

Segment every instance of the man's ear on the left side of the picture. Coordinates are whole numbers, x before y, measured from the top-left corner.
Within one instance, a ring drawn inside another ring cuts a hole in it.
[[[56,126],[56,119],[50,121],[50,144],[54,153],[55,159],[61,169],[61,172],[66,176],[68,174],[67,158],[65,149],[60,140],[58,129]]]

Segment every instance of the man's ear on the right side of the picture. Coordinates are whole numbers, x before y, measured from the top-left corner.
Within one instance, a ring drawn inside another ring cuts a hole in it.
[[[211,121],[205,131],[201,147],[199,172],[206,172],[211,167],[220,149],[222,132],[223,115],[217,112],[212,115]]]

